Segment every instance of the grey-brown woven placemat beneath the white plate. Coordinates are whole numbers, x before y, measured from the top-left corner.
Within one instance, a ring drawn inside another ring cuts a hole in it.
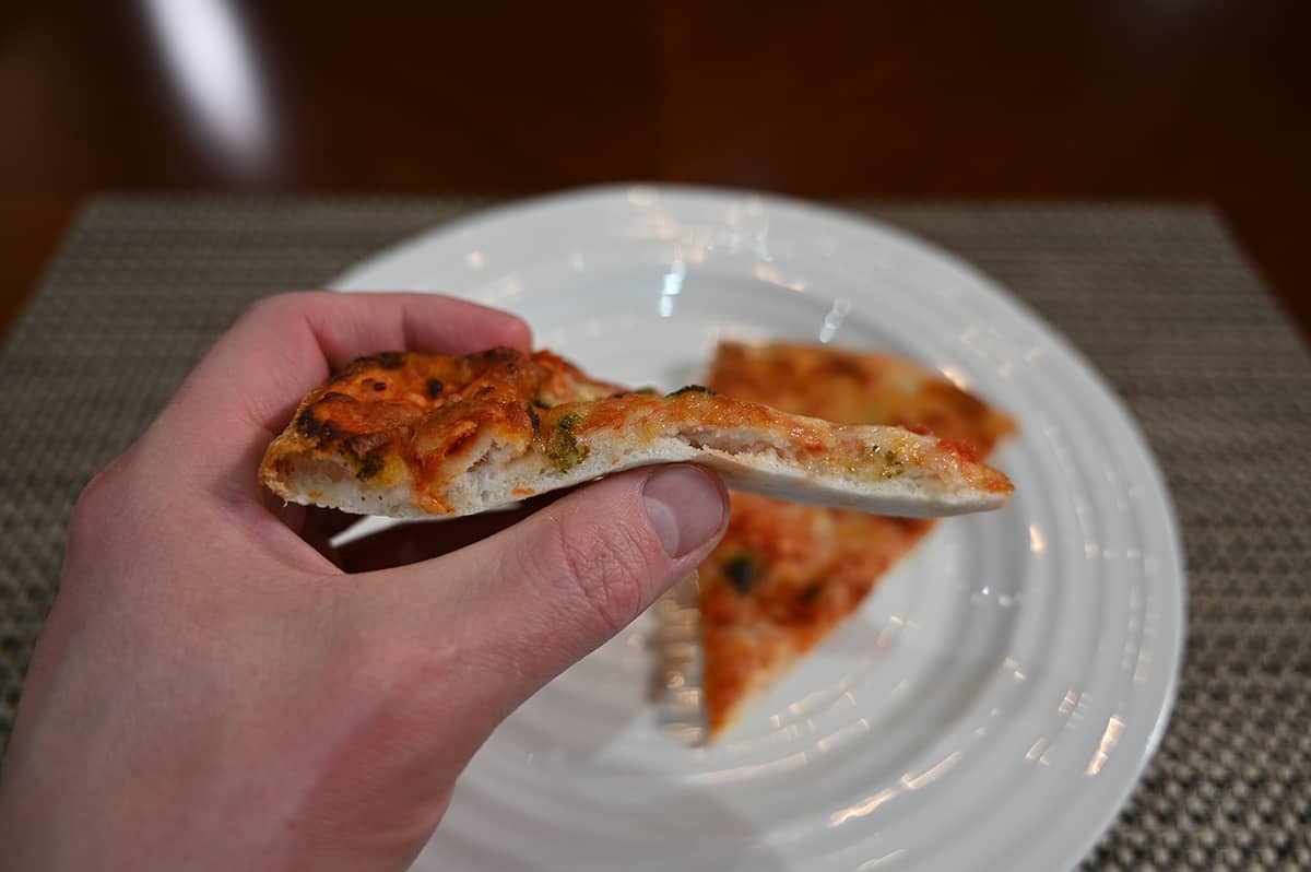
[[[73,500],[254,299],[472,201],[106,198],[0,350],[0,746]],[[1177,502],[1188,660],[1087,868],[1311,868],[1311,359],[1202,208],[855,203],[999,279],[1138,416]]]

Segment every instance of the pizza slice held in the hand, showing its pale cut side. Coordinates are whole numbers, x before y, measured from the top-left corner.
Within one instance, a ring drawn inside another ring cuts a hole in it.
[[[510,349],[355,361],[302,401],[260,479],[294,502],[454,517],[669,462],[711,467],[730,488],[863,511],[960,514],[1011,494],[964,443],[695,386],[628,392],[549,351]]]

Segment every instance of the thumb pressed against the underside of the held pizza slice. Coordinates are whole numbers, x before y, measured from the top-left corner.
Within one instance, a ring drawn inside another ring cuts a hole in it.
[[[364,633],[409,661],[388,670],[450,677],[434,686],[439,698],[412,702],[468,719],[475,743],[460,753],[472,754],[505,715],[691,572],[726,521],[712,473],[637,469],[439,560],[357,576],[351,590],[368,614]]]

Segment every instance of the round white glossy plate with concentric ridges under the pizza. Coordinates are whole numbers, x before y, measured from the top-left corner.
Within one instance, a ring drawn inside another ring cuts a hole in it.
[[[1177,535],[1124,408],[994,282],[829,208],[610,188],[442,227],[338,287],[499,306],[666,388],[720,337],[891,350],[1021,425],[995,455],[1011,505],[939,525],[720,743],[649,700],[648,614],[497,730],[417,868],[1058,869],[1112,821],[1172,699]]]

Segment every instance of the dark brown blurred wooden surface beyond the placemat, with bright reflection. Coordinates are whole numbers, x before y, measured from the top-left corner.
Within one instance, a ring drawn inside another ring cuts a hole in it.
[[[97,191],[1209,201],[1311,334],[1311,3],[9,0],[0,328]]]

